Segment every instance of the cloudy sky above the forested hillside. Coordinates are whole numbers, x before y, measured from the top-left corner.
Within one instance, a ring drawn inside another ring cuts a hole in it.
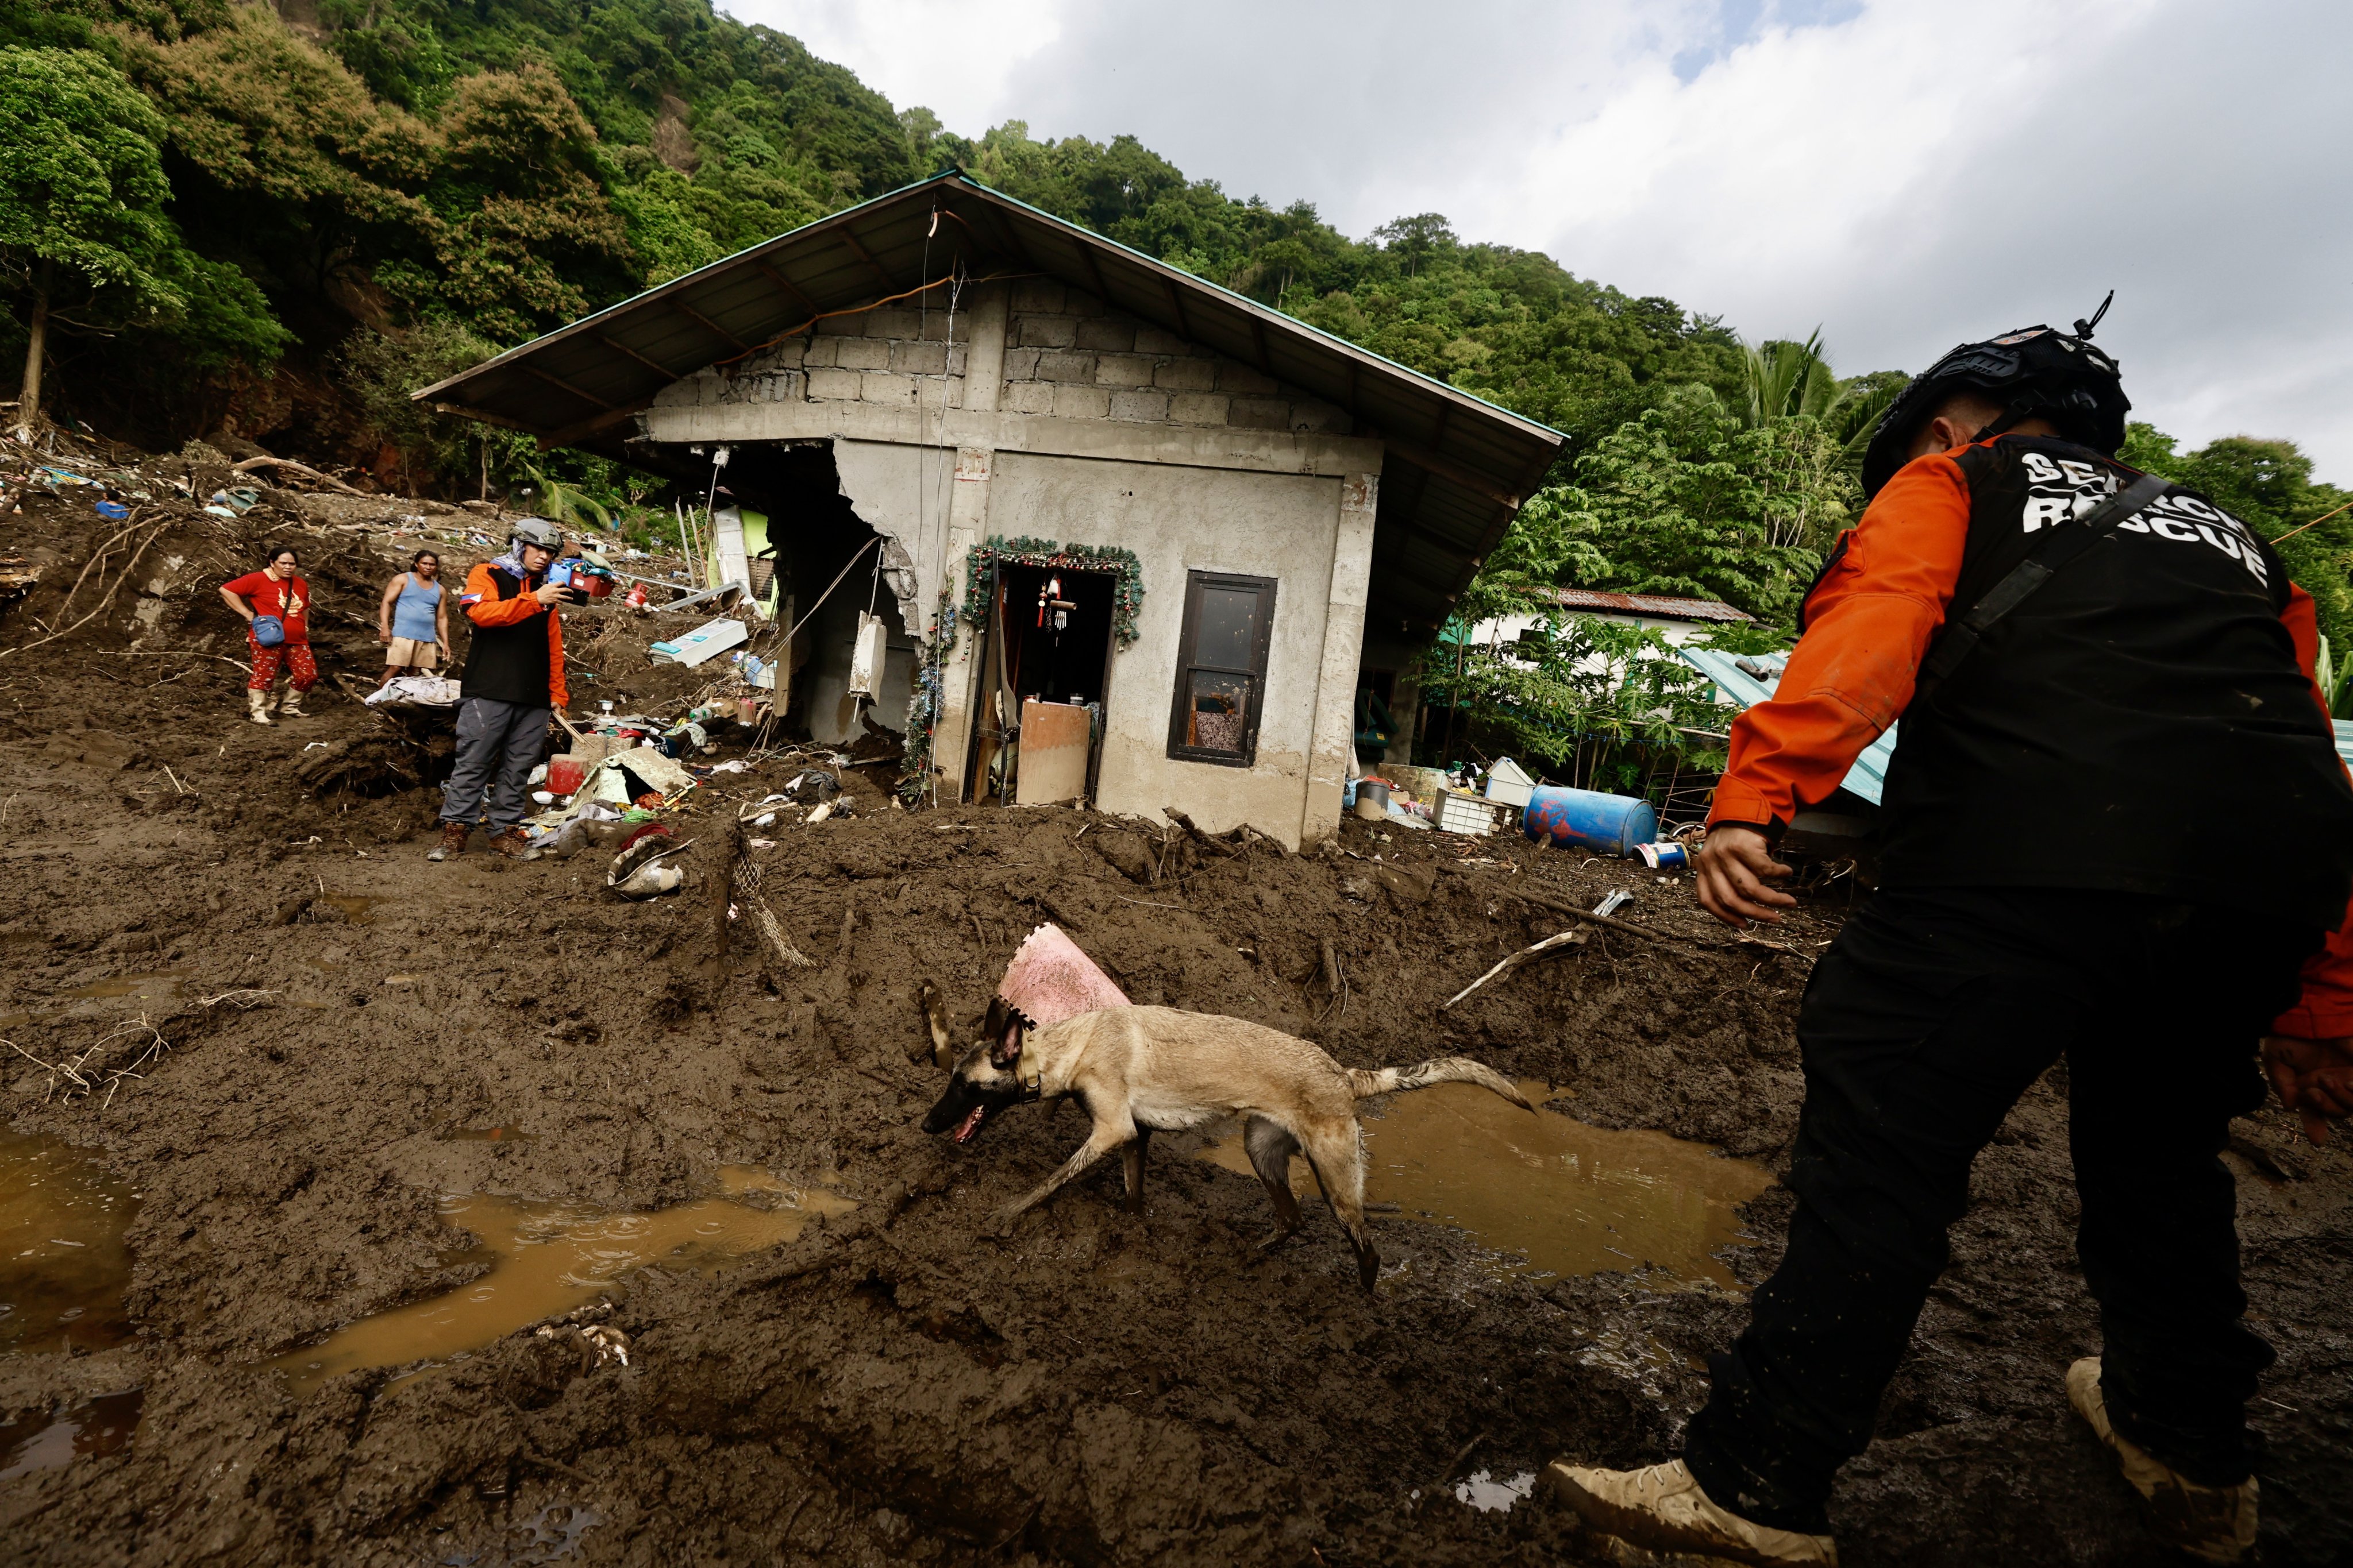
[[[1473,240],[1840,371],[2066,322],[2188,444],[2353,482],[2346,0],[722,0],[976,136],[1132,132],[1351,235]]]

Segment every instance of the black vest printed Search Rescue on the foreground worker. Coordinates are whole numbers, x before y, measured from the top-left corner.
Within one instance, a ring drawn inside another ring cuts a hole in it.
[[[1958,463],[1955,611],[2129,482],[2035,435]],[[2334,929],[2353,783],[2280,625],[2287,585],[2268,543],[2186,489],[2122,522],[1904,712],[1882,884],[2118,889]]]

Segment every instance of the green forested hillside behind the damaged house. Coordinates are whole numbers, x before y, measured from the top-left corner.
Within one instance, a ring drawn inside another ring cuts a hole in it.
[[[407,390],[948,165],[1567,430],[1494,590],[1706,592],[1786,623],[1901,386],[1440,214],[1353,240],[1132,136],[969,141],[708,0],[0,0],[0,360],[38,322],[45,411],[148,447],[247,437],[386,484],[560,477],[626,505],[612,465]],[[2287,442],[2134,449],[2266,531],[2339,498]],[[2353,630],[2353,520],[2285,548]]]

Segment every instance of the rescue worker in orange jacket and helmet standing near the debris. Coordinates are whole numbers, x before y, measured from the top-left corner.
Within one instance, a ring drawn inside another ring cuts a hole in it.
[[[456,710],[456,766],[442,790],[442,837],[428,860],[466,853],[485,797],[489,846],[532,858],[525,790],[548,750],[548,722],[569,705],[558,604],[576,604],[579,595],[546,581],[562,548],[553,522],[525,517],[506,555],[466,574],[459,607],[473,623],[473,642]]]

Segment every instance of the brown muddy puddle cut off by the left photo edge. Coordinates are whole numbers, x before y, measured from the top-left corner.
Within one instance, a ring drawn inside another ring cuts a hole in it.
[[[122,1241],[139,1192],[94,1150],[0,1128],[0,1354],[106,1349],[132,1338]]]

